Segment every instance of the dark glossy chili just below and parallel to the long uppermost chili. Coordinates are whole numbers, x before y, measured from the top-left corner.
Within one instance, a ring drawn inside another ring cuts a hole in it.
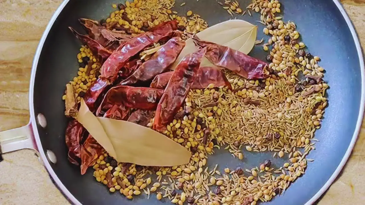
[[[118,85],[133,85],[140,81],[152,80],[153,77],[166,71],[175,62],[184,46],[185,41],[183,39],[179,37],[170,39],[150,59],[142,63],[130,77]]]

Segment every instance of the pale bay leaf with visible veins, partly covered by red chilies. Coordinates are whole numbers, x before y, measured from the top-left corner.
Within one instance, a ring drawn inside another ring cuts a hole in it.
[[[241,51],[244,54],[250,53],[255,45],[257,26],[250,24],[244,20],[234,19],[228,20],[214,26],[208,27],[196,34],[201,40],[217,43],[219,45],[228,46],[231,49]],[[177,57],[176,61],[170,66],[174,70],[177,64],[185,55],[195,52],[197,49],[191,38],[185,42],[185,47]],[[200,64],[203,66],[214,66],[207,58],[203,58]]]

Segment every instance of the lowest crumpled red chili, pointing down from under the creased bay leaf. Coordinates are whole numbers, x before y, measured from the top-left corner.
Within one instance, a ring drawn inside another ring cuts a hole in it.
[[[89,135],[80,149],[81,158],[81,174],[85,174],[89,166],[93,166],[103,153],[103,147],[96,140]]]

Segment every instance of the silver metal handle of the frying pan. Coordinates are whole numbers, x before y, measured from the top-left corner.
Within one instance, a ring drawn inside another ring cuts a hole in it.
[[[36,151],[36,154],[39,153],[31,123],[0,132],[0,154],[22,149],[32,149]]]

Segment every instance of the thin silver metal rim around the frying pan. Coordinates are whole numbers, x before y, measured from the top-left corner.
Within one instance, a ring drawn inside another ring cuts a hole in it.
[[[39,57],[41,55],[41,51],[43,48],[43,45],[45,43],[45,40],[47,38],[47,35],[49,34],[49,31],[51,29],[51,27],[53,26],[55,20],[57,19],[58,15],[61,13],[61,11],[63,10],[63,8],[66,6],[66,4],[69,2],[70,0],[64,0],[61,5],[59,5],[59,7],[57,8],[57,10],[55,11],[55,13],[53,14],[52,18],[50,19],[50,22],[48,23],[45,31],[43,32],[42,38],[39,41],[37,50],[35,52],[34,58],[33,58],[33,63],[32,63],[32,71],[31,71],[31,79],[30,79],[30,88],[29,88],[29,105],[30,105],[30,122],[31,122],[31,126],[34,132],[34,136],[35,136],[35,142],[37,144],[39,153],[41,155],[41,158],[44,162],[44,165],[48,171],[48,173],[51,175],[51,177],[53,178],[54,182],[56,183],[56,186],[58,186],[58,189],[64,194],[64,196],[71,201],[74,204],[80,204],[80,201],[78,201],[76,199],[76,197],[73,196],[72,193],[69,192],[69,190],[65,187],[65,185],[61,182],[61,180],[57,177],[57,175],[55,174],[54,170],[52,169],[49,161],[47,160],[46,154],[43,151],[43,147],[41,144],[41,140],[38,134],[38,124],[37,121],[35,119],[35,113],[34,113],[34,106],[33,106],[33,102],[34,102],[34,81],[35,81],[35,74],[37,71],[37,66],[38,66],[38,61],[39,61]],[[364,57],[362,54],[362,50],[361,50],[361,45],[360,45],[360,40],[358,39],[356,30],[349,18],[349,16],[347,15],[345,9],[343,8],[342,4],[339,2],[339,0],[333,0],[333,2],[335,3],[335,5],[337,6],[337,8],[339,9],[339,11],[341,12],[343,18],[345,19],[347,26],[350,29],[351,35],[353,37],[355,46],[356,46],[356,50],[357,50],[357,54],[358,54],[358,58],[360,61],[360,71],[361,71],[361,99],[360,99],[360,110],[359,110],[359,115],[357,118],[357,123],[356,123],[356,127],[354,130],[354,134],[351,138],[349,147],[347,148],[345,155],[343,155],[343,158],[341,160],[341,162],[339,163],[339,165],[337,166],[337,168],[335,169],[334,173],[331,175],[331,177],[327,180],[326,183],[324,183],[324,185],[318,190],[318,192],[310,199],[308,200],[305,205],[310,205],[313,204],[316,200],[318,200],[318,198],[320,196],[322,196],[322,194],[324,192],[326,192],[326,190],[331,186],[331,184],[334,182],[334,180],[337,178],[337,176],[339,175],[339,173],[341,172],[341,170],[343,169],[343,167],[345,166],[347,160],[349,159],[351,152],[356,144],[358,135],[360,134],[360,129],[361,129],[361,124],[362,124],[362,119],[364,117],[364,109],[365,109],[365,65],[364,65]]]

